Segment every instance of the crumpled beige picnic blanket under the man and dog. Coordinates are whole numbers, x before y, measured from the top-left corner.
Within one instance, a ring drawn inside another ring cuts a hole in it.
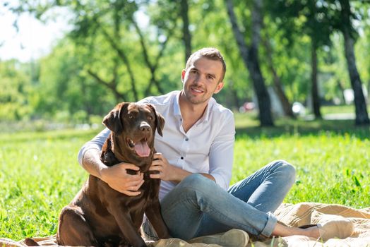
[[[279,222],[291,227],[298,227],[303,224],[316,224],[330,217],[340,215],[354,224],[354,232],[347,239],[329,239],[326,242],[317,241],[306,236],[287,236],[283,238],[265,239],[264,241],[249,241],[248,246],[370,246],[370,207],[354,209],[342,205],[323,203],[298,203],[282,204],[275,211]],[[44,238],[32,238],[41,246],[56,246],[55,236]],[[188,243],[180,239],[162,239],[159,241],[148,241],[148,246],[153,247],[218,247],[215,244]],[[24,247],[24,240],[13,241],[11,239],[0,239],[0,246]],[[240,246],[243,247],[243,246]]]

